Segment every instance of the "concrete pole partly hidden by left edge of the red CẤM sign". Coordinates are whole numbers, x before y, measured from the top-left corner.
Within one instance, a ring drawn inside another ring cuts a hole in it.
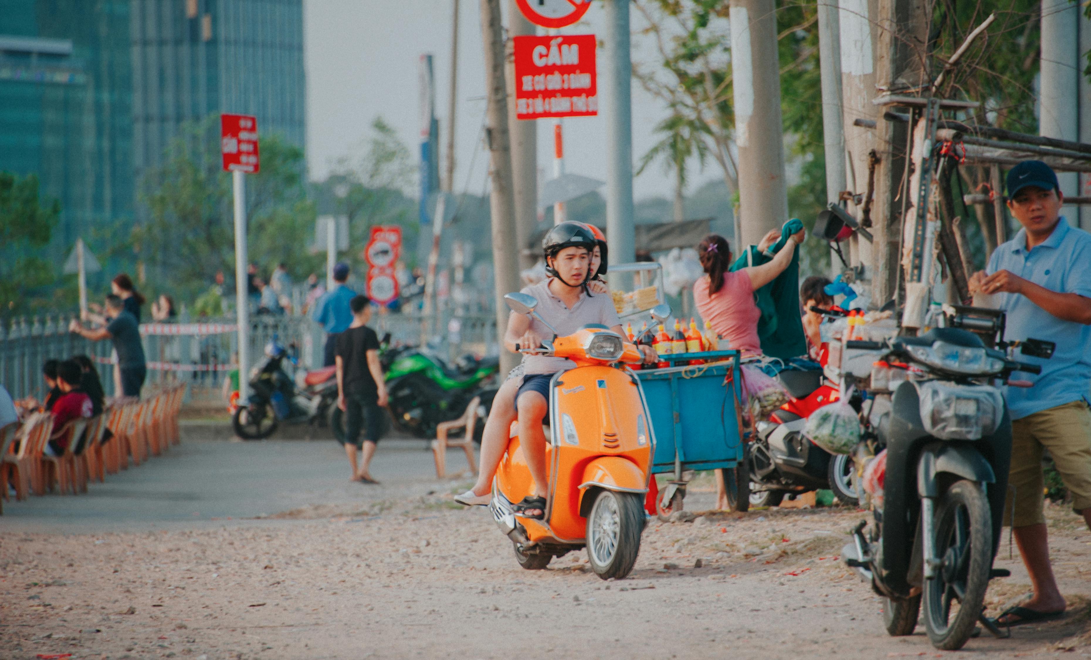
[[[527,36],[535,34],[535,25],[527,21],[515,4],[507,1],[507,34]],[[507,41],[507,84],[515,89],[514,41]],[[515,185],[515,242],[518,245],[519,267],[529,268],[538,261],[537,253],[523,254],[538,225],[538,120],[517,119],[515,116],[515,94],[507,99],[507,125],[512,135],[512,176]]]

